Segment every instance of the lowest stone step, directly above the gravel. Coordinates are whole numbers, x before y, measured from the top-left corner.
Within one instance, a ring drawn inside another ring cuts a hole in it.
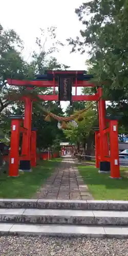
[[[128,238],[128,227],[0,223],[0,235]]]

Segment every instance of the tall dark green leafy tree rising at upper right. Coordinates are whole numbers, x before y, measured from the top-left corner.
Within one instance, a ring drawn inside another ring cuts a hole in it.
[[[75,10],[84,29],[75,40],[69,38],[72,52],[84,54],[87,47],[90,58],[88,72],[94,83],[103,86],[103,97],[111,101],[108,114],[123,113],[119,127],[128,130],[128,43],[127,0],[94,0],[83,3]],[[86,90],[86,89],[84,89]],[[94,89],[91,89],[93,93]]]

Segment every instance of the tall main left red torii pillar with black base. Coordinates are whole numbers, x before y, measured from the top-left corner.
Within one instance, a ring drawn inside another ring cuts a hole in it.
[[[31,122],[32,122],[32,100],[29,97],[24,97],[25,100],[25,119],[24,127],[27,129],[27,134],[23,134],[22,156],[20,160],[20,170],[31,172]]]

